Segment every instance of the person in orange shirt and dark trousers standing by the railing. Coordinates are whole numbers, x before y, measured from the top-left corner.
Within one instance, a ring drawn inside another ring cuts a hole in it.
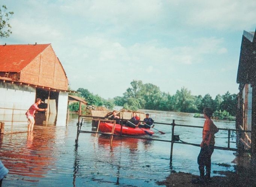
[[[205,117],[205,123],[203,125],[203,140],[200,144],[201,150],[197,157],[197,163],[199,165],[199,182],[203,180],[209,181],[211,175],[211,156],[214,151],[214,134],[218,132],[218,128],[212,122],[212,109],[203,109],[203,114]],[[206,169],[206,175],[205,175]]]

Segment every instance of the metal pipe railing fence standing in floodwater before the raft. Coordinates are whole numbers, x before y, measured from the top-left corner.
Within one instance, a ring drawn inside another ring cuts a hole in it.
[[[83,125],[82,121],[80,122],[80,120],[82,119],[87,119],[87,120],[93,120],[93,121],[98,121],[98,126],[97,126],[97,130],[96,131],[88,131],[88,130],[81,130],[81,127]],[[101,122],[104,121],[109,121],[109,122],[113,122],[113,129],[111,133],[105,133],[105,132],[99,132],[99,124]],[[125,120],[125,119],[120,119],[121,124],[125,121],[129,121],[129,120]],[[143,122],[143,121],[140,121]],[[78,114],[78,122],[77,122],[77,137],[75,139],[75,146],[78,146],[78,138],[80,133],[95,133],[95,134],[104,134],[104,135],[110,135],[110,142],[113,139],[113,136],[122,136],[122,137],[129,137],[129,138],[136,138],[136,139],[146,139],[146,140],[151,140],[151,141],[161,141],[161,142],[170,142],[171,143],[171,147],[170,147],[170,163],[172,163],[172,155],[173,155],[173,144],[186,144],[186,145],[193,145],[193,146],[197,146],[200,147],[200,144],[194,144],[194,143],[190,143],[190,142],[184,142],[182,140],[179,139],[179,135],[175,135],[175,126],[177,127],[187,127],[187,128],[200,128],[202,129],[202,126],[190,126],[190,125],[181,125],[181,124],[176,124],[175,120],[172,120],[172,123],[159,123],[159,122],[154,122],[154,124],[162,124],[162,125],[167,125],[167,126],[172,126],[172,136],[170,137],[170,140],[166,140],[166,139],[156,139],[156,138],[147,138],[147,137],[140,137],[140,136],[130,136],[130,135],[123,135],[122,134],[122,126],[121,126],[121,132],[119,134],[114,134],[114,127],[116,125],[116,121],[113,120],[113,118],[105,118],[105,117],[96,117],[96,116],[87,116],[87,115],[81,115],[81,110],[79,111]],[[228,137],[227,137],[227,147],[221,147],[221,146],[214,146],[214,149],[218,149],[218,150],[227,150],[227,151],[238,151],[237,148],[231,148],[230,147],[230,135],[231,132],[236,132],[236,134],[238,134],[238,132],[241,132],[241,130],[239,129],[227,129],[227,128],[218,128],[218,130],[224,130],[227,131]],[[248,131],[246,131],[248,132]]]

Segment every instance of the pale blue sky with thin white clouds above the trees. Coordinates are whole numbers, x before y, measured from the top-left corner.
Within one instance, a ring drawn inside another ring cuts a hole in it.
[[[73,90],[122,96],[133,80],[175,94],[238,93],[243,30],[255,0],[1,0],[14,15],[4,44],[51,43]]]

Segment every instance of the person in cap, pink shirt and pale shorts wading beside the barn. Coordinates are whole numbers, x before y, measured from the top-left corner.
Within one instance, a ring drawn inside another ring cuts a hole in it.
[[[30,132],[33,131],[33,127],[34,127],[34,124],[35,124],[35,112],[36,111],[47,111],[47,108],[45,109],[41,109],[41,108],[38,108],[38,105],[40,105],[41,103],[41,99],[40,98],[37,98],[36,99],[36,102],[30,106],[30,108],[27,110],[26,112],[26,116],[27,116],[27,119],[28,119],[28,122],[29,122],[29,126],[27,127],[27,130]]]

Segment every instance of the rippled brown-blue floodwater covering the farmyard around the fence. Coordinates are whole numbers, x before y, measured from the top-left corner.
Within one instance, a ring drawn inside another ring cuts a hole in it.
[[[148,111],[157,122],[203,126],[204,119],[178,112]],[[160,116],[161,115],[161,116]],[[1,120],[0,120],[1,121]],[[80,133],[75,149],[77,115],[70,114],[68,126],[56,126],[38,119],[33,133],[13,133],[0,136],[0,159],[9,169],[3,186],[157,186],[172,170],[199,175],[197,155],[200,148],[174,144],[170,165],[170,143],[134,138],[114,137],[112,144],[106,135]],[[59,123],[57,123],[59,124]],[[235,128],[234,122],[215,121],[220,128]],[[172,126],[157,124],[161,135],[155,139],[171,139]],[[8,124],[8,131],[25,131],[26,123]],[[92,130],[85,121],[82,130]],[[185,142],[200,144],[202,129],[175,126],[175,134]],[[235,132],[231,132],[230,147],[235,148]],[[150,138],[150,137],[149,137]],[[216,134],[217,146],[227,147],[227,131]],[[232,165],[233,151],[214,150],[212,175],[218,171],[233,171],[218,163]]]

